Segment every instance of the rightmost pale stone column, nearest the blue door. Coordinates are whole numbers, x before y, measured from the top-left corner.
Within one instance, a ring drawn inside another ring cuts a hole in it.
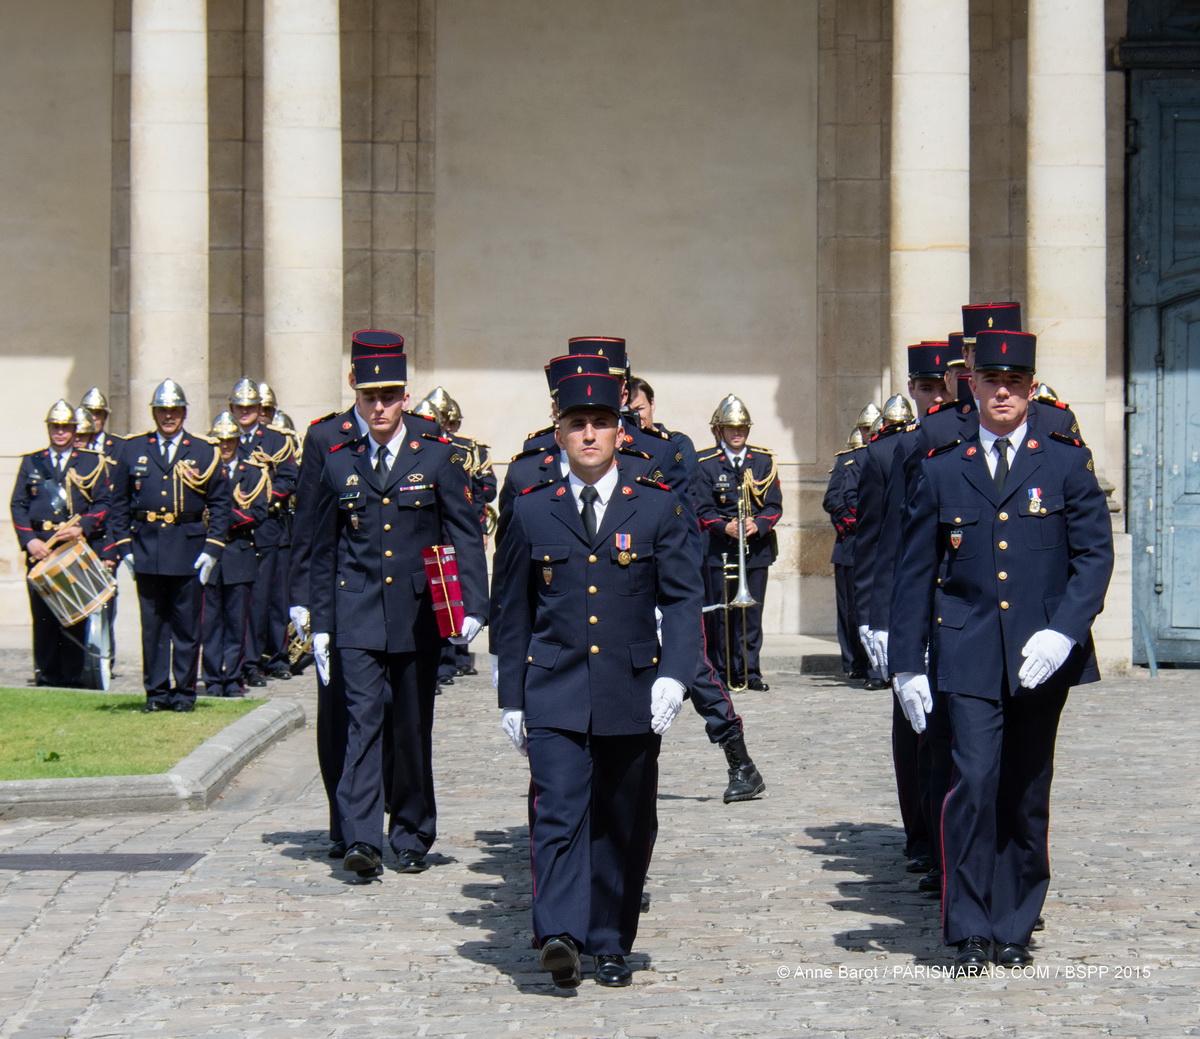
[[[1031,0],[1026,328],[1103,468],[1105,127],[1103,0]]]

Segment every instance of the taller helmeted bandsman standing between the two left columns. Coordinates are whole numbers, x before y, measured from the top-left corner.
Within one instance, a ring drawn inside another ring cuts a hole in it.
[[[287,644],[287,561],[282,557],[289,543],[288,503],[295,491],[298,470],[292,439],[262,421],[262,397],[252,379],[239,379],[234,385],[229,412],[241,431],[238,454],[265,467],[270,475],[270,510],[254,531],[258,575],[251,593],[245,667],[246,684],[263,686],[266,684],[264,675],[292,678]]]

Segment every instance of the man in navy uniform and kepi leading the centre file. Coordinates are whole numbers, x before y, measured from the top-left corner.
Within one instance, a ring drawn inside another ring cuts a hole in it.
[[[677,497],[616,462],[616,380],[570,376],[558,406],[569,475],[524,492],[503,539],[498,696],[529,757],[541,966],[575,987],[588,953],[596,981],[620,986],[656,831],[661,737],[701,655],[700,567]]]

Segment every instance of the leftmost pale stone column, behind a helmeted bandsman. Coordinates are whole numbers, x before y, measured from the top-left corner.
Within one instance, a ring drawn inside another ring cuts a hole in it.
[[[130,76],[130,422],[179,383],[209,402],[209,101],[205,0],[133,0]]]

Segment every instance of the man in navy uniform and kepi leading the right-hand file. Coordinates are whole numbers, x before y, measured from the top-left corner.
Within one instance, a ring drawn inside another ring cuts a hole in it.
[[[1036,342],[978,334],[979,430],[920,463],[896,571],[908,590],[889,638],[896,695],[918,731],[935,681],[947,698],[942,918],[964,973],[1032,961],[1058,717],[1072,686],[1099,678],[1091,627],[1112,572],[1091,454],[1028,421]]]

